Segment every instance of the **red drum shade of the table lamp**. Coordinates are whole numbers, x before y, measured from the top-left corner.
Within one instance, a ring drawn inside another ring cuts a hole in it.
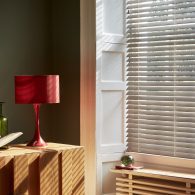
[[[59,103],[59,75],[15,76],[16,104]]]

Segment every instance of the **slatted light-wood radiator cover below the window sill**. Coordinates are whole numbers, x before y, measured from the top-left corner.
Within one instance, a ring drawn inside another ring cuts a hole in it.
[[[140,169],[117,173],[116,195],[195,195],[195,174]]]

